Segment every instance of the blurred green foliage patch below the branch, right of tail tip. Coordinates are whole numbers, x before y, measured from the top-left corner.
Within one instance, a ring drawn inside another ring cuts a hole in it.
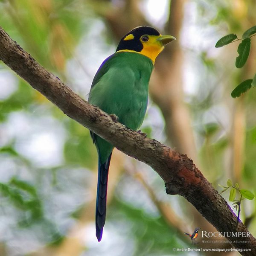
[[[134,256],[168,255],[173,248],[186,246],[185,239],[179,237],[175,228],[168,227],[162,216],[150,216],[119,200],[113,200],[109,215],[115,220],[128,221],[134,235]]]

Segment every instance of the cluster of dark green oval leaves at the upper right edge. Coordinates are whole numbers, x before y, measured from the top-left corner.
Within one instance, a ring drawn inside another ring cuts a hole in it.
[[[241,68],[246,63],[249,54],[250,54],[250,46],[251,46],[251,37],[256,35],[256,26],[251,27],[250,29],[247,29],[244,34],[242,35],[242,38],[238,39],[236,34],[229,34],[225,35],[221,39],[218,40],[215,47],[223,47],[224,45],[240,41],[237,48],[238,57],[236,57],[236,67]],[[243,82],[241,82],[231,93],[231,96],[233,98],[241,96],[241,94],[247,92],[251,87],[256,87],[256,74],[253,77],[253,79],[247,79]]]

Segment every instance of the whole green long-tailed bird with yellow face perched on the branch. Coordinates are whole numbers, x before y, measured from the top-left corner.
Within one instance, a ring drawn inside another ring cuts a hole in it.
[[[88,102],[113,120],[138,131],[148,105],[148,83],[157,55],[176,40],[150,26],[138,26],[119,42],[116,52],[103,61],[94,76]],[[139,132],[139,131],[138,131]],[[106,219],[108,170],[113,145],[90,131],[98,152],[96,237],[102,239]]]

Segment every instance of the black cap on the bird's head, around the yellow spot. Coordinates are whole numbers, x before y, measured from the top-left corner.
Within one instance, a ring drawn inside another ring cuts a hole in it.
[[[128,35],[134,35],[132,40],[124,40]],[[119,42],[116,52],[120,50],[134,50],[140,52],[143,49],[143,44],[140,41],[142,35],[160,35],[160,33],[150,26],[139,26],[127,33]]]

